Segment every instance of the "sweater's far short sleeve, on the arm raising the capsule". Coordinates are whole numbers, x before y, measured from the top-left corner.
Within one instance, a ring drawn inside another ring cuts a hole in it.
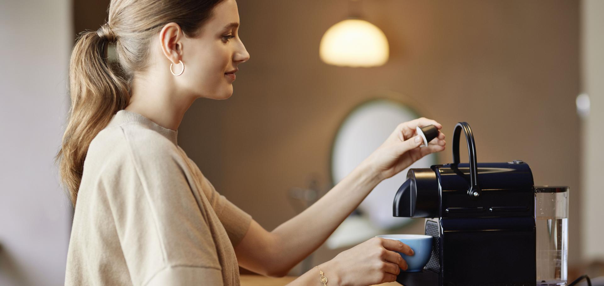
[[[225,227],[226,234],[228,234],[231,244],[233,244],[233,247],[236,247],[248,232],[252,222],[252,216],[240,209],[230,200],[226,199],[224,195],[217,192],[216,188],[210,183],[210,180],[201,173],[197,164],[189,157],[187,157],[187,159],[193,169],[193,173],[195,173],[202,181],[201,188],[210,201],[212,208],[214,208],[214,212],[216,212],[220,223]]]

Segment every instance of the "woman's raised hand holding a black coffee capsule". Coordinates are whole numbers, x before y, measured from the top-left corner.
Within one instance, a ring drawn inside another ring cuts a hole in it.
[[[369,170],[373,171],[381,181],[405,170],[427,154],[445,150],[445,134],[440,131],[437,138],[430,141],[428,146],[418,148],[422,145],[423,139],[422,136],[417,135],[416,127],[431,124],[439,130],[443,128],[439,122],[423,117],[399,124],[388,139],[362,164],[368,164]]]

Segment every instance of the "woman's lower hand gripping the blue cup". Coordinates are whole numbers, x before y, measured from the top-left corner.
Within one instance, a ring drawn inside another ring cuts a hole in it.
[[[397,252],[414,254],[411,247],[398,240],[374,237],[319,267],[329,279],[327,285],[367,286],[393,282],[401,269],[407,269],[407,262]]]

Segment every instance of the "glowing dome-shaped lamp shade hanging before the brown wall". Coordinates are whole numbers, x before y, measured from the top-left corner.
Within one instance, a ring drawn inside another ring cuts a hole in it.
[[[319,56],[336,66],[381,66],[388,61],[388,40],[370,22],[347,19],[336,23],[323,35]]]

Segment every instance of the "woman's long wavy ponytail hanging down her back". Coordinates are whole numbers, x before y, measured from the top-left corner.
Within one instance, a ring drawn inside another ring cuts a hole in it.
[[[114,41],[107,24],[98,31],[82,32],[69,59],[71,107],[55,162],[74,207],[90,142],[130,99],[129,83],[112,70],[106,56]]]

